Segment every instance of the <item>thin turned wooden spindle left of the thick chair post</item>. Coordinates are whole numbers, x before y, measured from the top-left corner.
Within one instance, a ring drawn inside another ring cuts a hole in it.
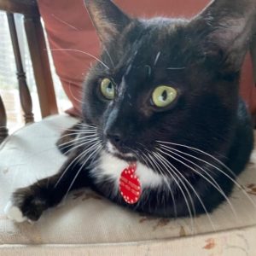
[[[15,26],[15,17],[13,14],[10,14],[10,13],[7,14],[7,17],[9,22],[9,32],[10,32],[10,36],[13,44],[14,53],[15,53],[17,79],[19,82],[19,90],[20,90],[20,104],[24,112],[24,118],[25,118],[26,124],[32,123],[34,121],[34,115],[32,113],[32,97],[30,95],[30,91],[26,84],[26,73],[24,72],[24,68],[21,61],[19,41],[18,41],[16,26]]]

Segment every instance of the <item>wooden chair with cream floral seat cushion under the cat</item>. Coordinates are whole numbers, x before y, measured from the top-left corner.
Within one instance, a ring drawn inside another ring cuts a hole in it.
[[[86,189],[74,192],[60,207],[45,212],[36,224],[15,224],[7,219],[3,207],[16,188],[57,172],[65,156],[55,148],[55,142],[61,131],[77,119],[57,114],[37,2],[0,0],[0,9],[8,15],[20,102],[26,124],[29,124],[8,137],[6,114],[0,97],[1,255],[255,255],[256,148],[247,170],[239,177],[239,183],[247,193],[236,187],[230,196],[237,218],[227,203],[210,216],[195,218],[195,223],[191,223],[189,218],[150,218],[128,212]],[[32,101],[20,61],[13,13],[24,15],[44,117],[33,124]],[[253,45],[256,44],[252,44],[251,53],[253,61],[256,61],[256,47]]]

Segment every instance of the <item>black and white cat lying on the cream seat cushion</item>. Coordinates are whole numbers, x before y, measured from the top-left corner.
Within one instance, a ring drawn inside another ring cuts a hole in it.
[[[68,152],[72,143],[60,145],[68,155],[60,172],[17,190],[14,206],[37,220],[82,187],[161,217],[229,201],[253,149],[238,86],[254,1],[216,0],[191,21],[135,20],[108,0],[85,3],[103,48],[84,84],[79,135]],[[142,192],[134,204],[119,191],[131,163]]]

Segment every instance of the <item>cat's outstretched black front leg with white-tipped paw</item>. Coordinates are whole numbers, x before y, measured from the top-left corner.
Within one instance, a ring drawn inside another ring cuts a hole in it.
[[[86,166],[72,154],[61,166],[61,170],[26,188],[17,189],[5,208],[6,215],[16,222],[36,221],[49,207],[58,205],[73,189],[89,185]]]

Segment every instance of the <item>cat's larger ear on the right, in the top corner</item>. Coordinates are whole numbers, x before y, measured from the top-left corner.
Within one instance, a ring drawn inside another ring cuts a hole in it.
[[[255,29],[256,0],[215,0],[191,21],[201,51],[239,71]]]

